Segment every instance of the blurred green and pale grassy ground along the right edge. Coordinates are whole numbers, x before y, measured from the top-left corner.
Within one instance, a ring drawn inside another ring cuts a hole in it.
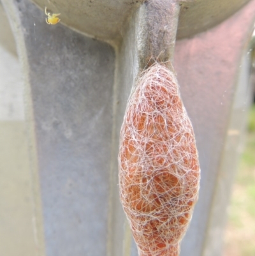
[[[233,184],[223,256],[255,255],[255,105],[249,110],[237,176]]]

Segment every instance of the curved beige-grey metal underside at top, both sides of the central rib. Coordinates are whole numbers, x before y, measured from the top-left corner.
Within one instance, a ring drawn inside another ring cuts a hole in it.
[[[32,0],[43,11],[61,13],[61,22],[82,33],[102,40],[121,40],[130,13],[145,0]],[[227,19],[249,0],[180,0],[178,38],[196,33],[219,24]],[[148,1],[149,3],[149,1]]]

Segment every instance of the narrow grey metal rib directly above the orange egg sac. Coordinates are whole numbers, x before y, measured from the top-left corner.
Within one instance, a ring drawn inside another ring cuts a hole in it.
[[[179,3],[170,0],[145,2],[139,8],[135,43],[141,70],[155,61],[173,61],[179,14]]]

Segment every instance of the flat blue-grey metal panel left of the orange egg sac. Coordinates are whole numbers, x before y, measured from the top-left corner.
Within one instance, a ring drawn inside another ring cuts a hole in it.
[[[45,251],[106,255],[114,51],[60,24],[48,26],[29,1],[13,4],[23,36],[18,52],[26,68],[27,125],[36,137]]]

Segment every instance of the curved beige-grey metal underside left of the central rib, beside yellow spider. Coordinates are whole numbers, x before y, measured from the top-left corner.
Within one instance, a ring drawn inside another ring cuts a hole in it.
[[[61,13],[61,22],[93,38],[119,41],[122,38],[123,24],[130,13],[144,0],[76,0],[33,2],[48,11]]]

